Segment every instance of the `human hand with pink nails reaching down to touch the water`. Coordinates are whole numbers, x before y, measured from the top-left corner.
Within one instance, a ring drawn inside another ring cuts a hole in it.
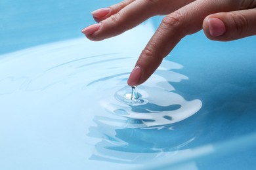
[[[146,45],[128,84],[142,84],[181,39],[203,28],[212,40],[232,41],[256,35],[253,0],[125,0],[92,12],[96,22],[83,29],[93,41],[119,35],[151,16],[168,14]]]

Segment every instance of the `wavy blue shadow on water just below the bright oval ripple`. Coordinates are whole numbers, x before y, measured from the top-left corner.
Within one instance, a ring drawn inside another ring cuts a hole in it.
[[[95,144],[91,160],[136,164],[148,160],[160,160],[175,155],[177,150],[194,141],[197,135],[190,128],[179,129],[179,126],[175,126],[178,129],[173,129],[173,125],[152,129],[119,128],[104,124],[104,122],[116,121],[106,117],[97,116],[94,121],[97,126],[90,127],[87,135],[102,140]],[[127,121],[136,124],[139,120]]]

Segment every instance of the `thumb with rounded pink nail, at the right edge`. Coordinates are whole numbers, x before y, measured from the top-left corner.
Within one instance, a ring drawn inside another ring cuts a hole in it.
[[[215,41],[232,41],[256,35],[256,9],[211,14],[203,20],[203,31]]]

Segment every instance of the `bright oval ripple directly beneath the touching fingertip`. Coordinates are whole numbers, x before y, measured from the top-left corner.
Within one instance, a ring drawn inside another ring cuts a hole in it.
[[[141,88],[141,89],[140,89]],[[131,121],[125,126],[152,127],[164,126],[180,122],[200,110],[202,102],[199,99],[186,101],[181,95],[163,90],[163,88],[139,86],[138,99],[125,99],[125,95],[131,92],[130,87],[117,90],[114,99],[107,96],[100,101],[100,105],[108,112],[124,116],[126,118],[141,120],[141,124],[133,125]],[[159,98],[159,96],[161,96]]]

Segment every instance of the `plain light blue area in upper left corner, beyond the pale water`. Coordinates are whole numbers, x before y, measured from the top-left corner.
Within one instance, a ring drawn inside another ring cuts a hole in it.
[[[1,0],[0,54],[81,37],[93,24],[91,12],[118,1]]]

